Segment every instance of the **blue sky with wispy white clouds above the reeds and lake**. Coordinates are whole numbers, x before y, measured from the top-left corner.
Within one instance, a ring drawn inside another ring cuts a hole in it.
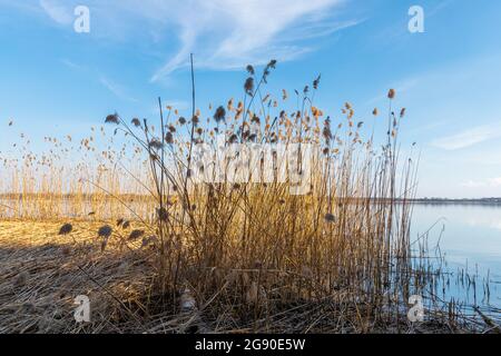
[[[73,30],[79,4],[90,33]],[[407,30],[414,4],[424,33]],[[316,102],[334,119],[350,101],[383,130],[371,112],[395,88],[403,150],[422,155],[419,196],[501,197],[500,1],[0,0],[0,27],[2,155],[19,132],[41,149],[115,110],[156,117],[158,96],[187,112],[190,52],[200,108],[239,99],[245,66],[275,58],[268,91],[322,73]]]

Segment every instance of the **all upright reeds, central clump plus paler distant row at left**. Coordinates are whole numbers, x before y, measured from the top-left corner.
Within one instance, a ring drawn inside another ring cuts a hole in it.
[[[2,187],[16,192],[2,214],[106,220],[96,231],[102,250],[109,240],[132,250],[143,240],[156,270],[145,297],[151,313],[196,310],[204,325],[223,329],[399,332],[410,327],[407,300],[416,294],[429,298],[430,323],[459,327],[456,305],[443,303],[444,310],[430,293],[440,270],[425,244],[415,254],[410,240],[416,167],[399,161],[405,110],[394,113],[395,91],[387,95],[387,135],[379,148],[374,137],[363,139],[352,105],[341,120],[314,106],[320,77],[313,89],[295,91],[294,112],[281,110],[285,90],[281,99],[263,93],[275,66],[271,61],[262,76],[249,66],[245,99],[218,106],[206,122],[195,102],[186,119],[171,107],[164,112],[159,100],[156,125],[108,116],[116,125],[108,149],[98,152],[94,130],[77,149],[84,160],[76,167],[58,162],[72,150],[52,138],[51,156],[24,151],[21,162],[6,160],[20,165]],[[120,135],[131,140],[117,152],[111,145]],[[191,184],[194,145],[214,146],[217,135],[226,145],[320,145],[323,160],[313,166],[311,192],[291,195],[277,180]],[[140,228],[124,235],[129,220]],[[71,229],[62,226],[61,234]]]

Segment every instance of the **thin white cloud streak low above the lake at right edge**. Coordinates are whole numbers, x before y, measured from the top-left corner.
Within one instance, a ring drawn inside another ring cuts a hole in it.
[[[468,148],[491,139],[501,137],[501,126],[478,126],[451,136],[442,137],[432,141],[432,146],[445,150]]]

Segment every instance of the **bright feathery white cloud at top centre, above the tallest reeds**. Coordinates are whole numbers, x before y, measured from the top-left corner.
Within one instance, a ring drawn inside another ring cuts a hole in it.
[[[263,65],[272,58],[281,61],[298,58],[312,48],[297,42],[343,28],[327,16],[340,3],[340,0],[193,1],[189,7],[200,9],[200,16],[195,19],[197,24],[194,26],[189,16],[180,23],[179,51],[151,80],[187,66],[188,53],[194,51],[204,58],[198,66],[209,69],[242,68],[248,62]]]

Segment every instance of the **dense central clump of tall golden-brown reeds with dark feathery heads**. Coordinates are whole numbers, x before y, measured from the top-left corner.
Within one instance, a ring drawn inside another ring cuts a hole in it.
[[[415,166],[399,162],[405,110],[394,113],[396,92],[390,90],[389,129],[380,149],[374,137],[363,138],[363,122],[355,120],[351,103],[341,119],[315,107],[320,76],[313,89],[295,90],[292,112],[282,110],[286,90],[281,99],[264,93],[275,67],[273,60],[258,76],[248,66],[244,99],[217,106],[206,125],[195,106],[195,88],[189,119],[171,107],[164,112],[160,99],[156,126],[118,113],[106,118],[148,157],[151,180],[144,185],[156,201],[149,225],[156,241],[156,296],[174,309],[193,298],[209,318],[223,313],[224,323],[236,318],[256,327],[277,310],[326,300],[358,330],[380,322],[402,323],[409,296],[423,287],[415,283],[409,236]],[[266,182],[250,176],[235,182],[227,170],[212,181],[196,181],[195,169],[209,167],[195,164],[195,146],[216,147],[218,135],[225,147],[321,147],[321,159],[308,171],[307,194],[291,195],[292,181],[277,179],[282,158],[276,152],[274,178]]]

